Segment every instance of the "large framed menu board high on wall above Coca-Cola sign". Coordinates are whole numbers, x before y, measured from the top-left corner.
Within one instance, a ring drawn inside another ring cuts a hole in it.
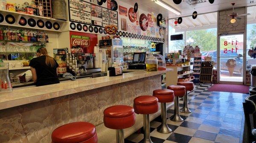
[[[79,22],[94,26],[118,27],[117,11],[85,2],[84,0],[68,0],[71,22]]]

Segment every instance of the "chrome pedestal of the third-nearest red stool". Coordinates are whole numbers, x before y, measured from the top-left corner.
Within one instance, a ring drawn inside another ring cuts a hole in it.
[[[150,138],[150,121],[149,115],[143,115],[143,129],[144,129],[144,139],[142,143],[153,143]]]

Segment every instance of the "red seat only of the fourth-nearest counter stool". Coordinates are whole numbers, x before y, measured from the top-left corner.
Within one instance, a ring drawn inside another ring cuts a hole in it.
[[[160,103],[169,103],[174,101],[174,92],[172,90],[154,90],[153,96],[155,96]]]

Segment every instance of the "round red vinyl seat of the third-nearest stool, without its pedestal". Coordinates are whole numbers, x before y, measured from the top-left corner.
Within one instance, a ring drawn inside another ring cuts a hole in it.
[[[158,99],[154,96],[144,95],[134,99],[134,111],[137,114],[153,114],[158,111]]]

